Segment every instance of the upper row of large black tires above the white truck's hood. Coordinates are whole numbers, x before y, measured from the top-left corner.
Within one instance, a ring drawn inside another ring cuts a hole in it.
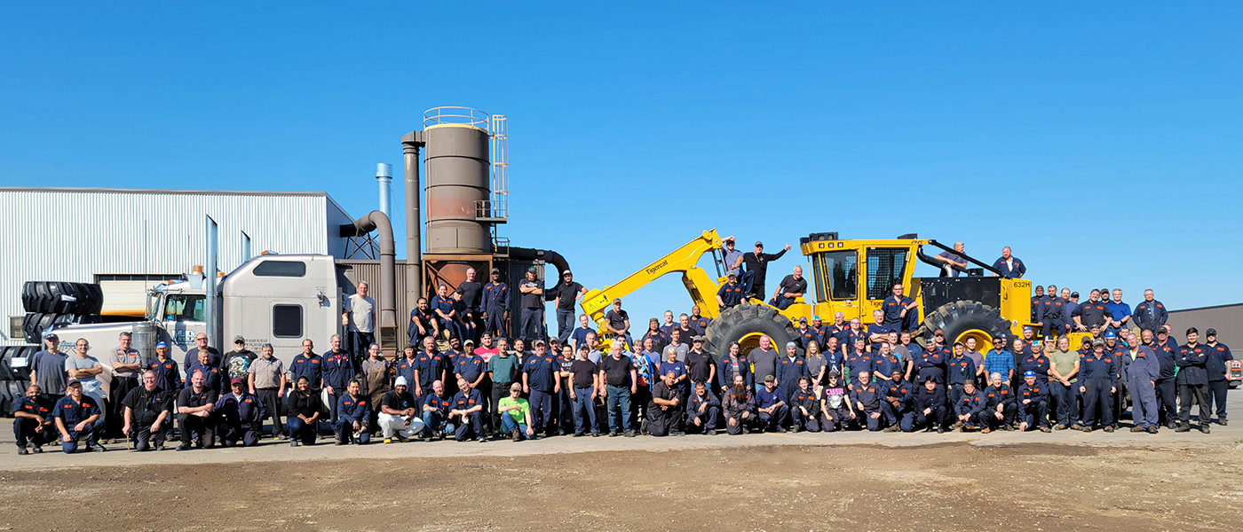
[[[52,325],[98,324],[103,289],[98,284],[27,280],[21,290],[26,317],[21,331],[30,344],[42,344]]]

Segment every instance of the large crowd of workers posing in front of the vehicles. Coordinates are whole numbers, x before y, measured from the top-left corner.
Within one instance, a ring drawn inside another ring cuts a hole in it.
[[[789,278],[800,280],[800,272]],[[568,273],[564,282],[572,283]],[[782,291],[789,286],[783,280],[776,298],[792,299],[794,293]],[[620,300],[608,313],[608,331],[579,315],[579,326],[563,337],[511,342],[484,329],[476,344],[462,325],[441,350],[434,331],[457,326],[446,314],[450,322],[429,321],[433,332],[418,332],[418,344],[395,361],[375,344],[355,355],[333,335],[322,353],[305,340],[286,365],[271,345],[255,353],[236,337],[234,350],[221,355],[199,334],[180,363],[169,360],[165,344],[143,362],[122,334],[107,356],[107,393],[87,341],[63,355],[53,334],[32,361],[26,396],[15,403],[14,432],[26,454],[51,441],[66,453],[102,450],[101,439],[163,449],[174,428],[178,450],[257,445],[265,420],[271,438],[295,446],[314,444],[321,424],[346,445],[373,435],[392,443],[789,429],[1112,432],[1129,404],[1132,432],[1190,430],[1193,403],[1201,430],[1209,430],[1214,414],[1227,423],[1226,361],[1233,356],[1214,330],[1201,342],[1191,329],[1180,345],[1151,290],[1134,313],[1119,308],[1120,290],[1112,291],[1114,306],[1100,300],[1104,290],[1093,290],[1084,304],[1069,290],[1062,300],[1042,291],[1033,298],[1035,327],[1022,337],[994,337],[992,346],[975,337],[950,345],[940,330],[925,346],[915,342],[917,313],[901,284],[866,326],[842,313],[833,324],[799,319],[793,340],[777,346],[763,336],[747,353],[738,344],[725,353],[705,351],[711,320],[699,306],[676,321],[671,311],[663,322],[653,317],[634,340]],[[355,305],[354,311],[373,311]],[[497,316],[495,310],[488,316]],[[354,311],[347,309],[343,320],[363,321]],[[1071,331],[1089,335],[1071,346]],[[604,334],[614,339],[607,348]]]

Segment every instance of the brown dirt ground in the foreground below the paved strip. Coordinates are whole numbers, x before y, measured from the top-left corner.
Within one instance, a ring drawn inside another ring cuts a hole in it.
[[[0,530],[1238,530],[1243,450],[756,446],[0,472]]]

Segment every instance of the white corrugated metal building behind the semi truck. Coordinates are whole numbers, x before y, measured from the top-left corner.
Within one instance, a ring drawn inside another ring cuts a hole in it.
[[[20,329],[27,280],[99,283],[103,315],[140,315],[148,286],[205,265],[208,217],[224,273],[265,250],[344,258],[353,222],[326,192],[0,187],[0,316]],[[24,342],[10,329],[0,344]]]

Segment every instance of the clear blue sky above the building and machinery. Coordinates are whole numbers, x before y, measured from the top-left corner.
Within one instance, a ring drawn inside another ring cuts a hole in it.
[[[588,286],[716,227],[917,232],[1132,304],[1243,301],[1238,2],[444,4],[5,2],[0,185],[324,190],[357,216],[424,109],[470,105],[510,117],[503,234]],[[689,301],[670,277],[626,306]]]

